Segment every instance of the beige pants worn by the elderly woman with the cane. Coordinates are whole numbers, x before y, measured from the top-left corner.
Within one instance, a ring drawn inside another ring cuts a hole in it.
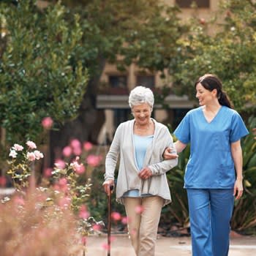
[[[129,238],[137,256],[154,256],[157,229],[164,200],[162,197],[125,197]],[[143,211],[138,213],[142,208]]]

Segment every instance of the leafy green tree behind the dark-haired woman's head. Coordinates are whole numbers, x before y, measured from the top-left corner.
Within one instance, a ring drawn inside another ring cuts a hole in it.
[[[255,11],[253,1],[222,1],[212,20],[192,20],[191,31],[179,41],[180,54],[170,62],[178,94],[195,99],[195,79],[211,72],[222,79],[236,110],[255,110]]]

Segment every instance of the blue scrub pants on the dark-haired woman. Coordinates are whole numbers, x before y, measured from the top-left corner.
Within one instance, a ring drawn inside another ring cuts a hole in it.
[[[233,189],[187,189],[193,256],[227,256]]]

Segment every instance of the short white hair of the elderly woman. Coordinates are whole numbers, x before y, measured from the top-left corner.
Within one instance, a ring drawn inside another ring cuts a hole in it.
[[[151,108],[154,106],[154,94],[151,89],[144,86],[136,86],[129,93],[129,107],[147,103]]]

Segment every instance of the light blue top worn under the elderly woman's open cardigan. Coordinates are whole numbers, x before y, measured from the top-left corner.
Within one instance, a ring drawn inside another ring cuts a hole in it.
[[[146,156],[148,146],[152,143],[154,135],[140,136],[133,135],[133,142],[135,147],[135,159],[138,170],[143,168],[143,162]],[[139,195],[139,189],[131,189],[124,193],[124,197],[147,197],[151,194]]]

